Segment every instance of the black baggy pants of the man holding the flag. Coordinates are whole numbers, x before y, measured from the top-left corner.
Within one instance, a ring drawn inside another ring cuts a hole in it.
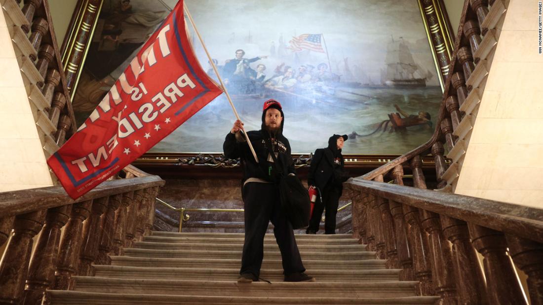
[[[292,225],[288,222],[279,202],[279,189],[275,184],[250,182],[244,186],[245,242],[239,274],[250,272],[260,276],[264,257],[264,235],[268,224],[274,225],[273,233],[283,262],[285,274],[304,272],[300,251],[294,239]]]

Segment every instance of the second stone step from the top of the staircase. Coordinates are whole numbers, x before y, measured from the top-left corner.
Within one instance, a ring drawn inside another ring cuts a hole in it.
[[[244,237],[200,237],[200,236],[145,236],[144,242],[161,242],[161,243],[214,243],[214,244],[243,244]],[[275,237],[268,236],[264,238],[264,244],[275,244]],[[298,245],[302,244],[358,244],[355,238],[296,238]]]

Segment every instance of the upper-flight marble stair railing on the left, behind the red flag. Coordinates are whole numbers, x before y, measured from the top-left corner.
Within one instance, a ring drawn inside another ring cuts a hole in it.
[[[76,132],[47,0],[2,0],[28,101],[46,157]]]

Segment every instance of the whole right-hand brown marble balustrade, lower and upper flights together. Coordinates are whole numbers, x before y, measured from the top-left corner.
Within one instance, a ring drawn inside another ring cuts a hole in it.
[[[400,280],[418,281],[418,295],[437,295],[441,304],[525,304],[514,264],[528,276],[532,304],[543,304],[543,210],[448,193],[462,167],[499,38],[495,27],[508,3],[465,1],[432,138],[346,183],[353,236],[387,259],[387,268],[401,269]],[[427,190],[433,181],[421,170],[428,153],[439,191]],[[414,187],[403,186],[404,166],[411,168]],[[389,177],[395,184],[383,183]]]

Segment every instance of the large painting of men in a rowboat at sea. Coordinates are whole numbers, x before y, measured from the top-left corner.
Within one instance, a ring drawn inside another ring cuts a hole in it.
[[[74,99],[82,122],[176,1],[105,1]],[[441,88],[416,0],[186,0],[247,129],[279,100],[294,153],[349,134],[344,153],[401,154],[427,141]],[[217,79],[190,28],[201,66]],[[235,121],[219,96],[152,148],[221,152]]]

